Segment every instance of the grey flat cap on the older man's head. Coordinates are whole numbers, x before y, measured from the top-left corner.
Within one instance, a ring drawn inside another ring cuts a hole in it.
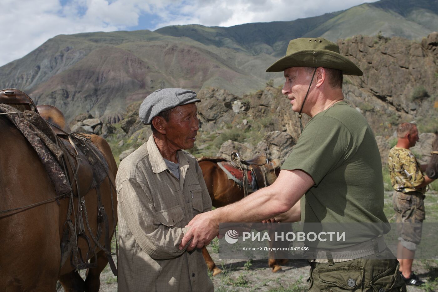
[[[200,99],[196,98],[194,91],[182,88],[157,89],[141,103],[140,120],[143,124],[150,125],[152,119],[158,116],[160,112],[194,102],[201,102]]]

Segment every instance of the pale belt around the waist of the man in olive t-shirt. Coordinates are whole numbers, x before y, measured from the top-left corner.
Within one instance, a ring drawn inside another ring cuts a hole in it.
[[[355,260],[364,256],[375,254],[380,255],[380,252],[386,249],[385,239],[383,236],[378,236],[356,244],[354,246],[343,247],[340,249],[315,249],[314,259],[309,260],[311,263],[340,263],[347,260]]]

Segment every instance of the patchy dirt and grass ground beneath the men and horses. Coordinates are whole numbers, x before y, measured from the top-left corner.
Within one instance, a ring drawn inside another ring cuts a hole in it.
[[[391,192],[385,192],[385,213],[392,217]],[[428,192],[426,199],[426,220],[438,222],[438,193]],[[207,247],[216,265],[223,272],[212,278],[216,292],[257,291],[257,292],[301,292],[307,291],[309,264],[306,260],[290,260],[282,266],[282,271],[272,273],[267,260],[221,260],[212,246]],[[115,257],[114,257],[115,258]],[[438,291],[438,260],[414,260],[413,270],[427,281],[422,287],[408,286],[408,292]],[[81,272],[84,278],[85,272]],[[117,291],[117,278],[107,265],[100,276],[100,291]],[[64,291],[62,288],[59,291]]]

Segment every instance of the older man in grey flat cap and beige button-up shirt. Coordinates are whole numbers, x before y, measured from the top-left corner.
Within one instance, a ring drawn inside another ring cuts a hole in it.
[[[118,291],[213,291],[201,249],[178,249],[187,223],[212,209],[198,161],[183,150],[194,146],[200,101],[191,90],[166,88],[141,103],[152,135],[116,177]]]

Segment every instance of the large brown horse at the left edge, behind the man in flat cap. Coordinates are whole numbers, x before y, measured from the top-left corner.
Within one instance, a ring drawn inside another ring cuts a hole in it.
[[[53,199],[55,189],[37,153],[4,115],[0,115],[0,133],[0,211]],[[96,135],[89,137],[109,165],[109,176],[100,185],[100,193],[109,219],[111,239],[113,217],[117,218],[112,210],[117,212],[117,197],[110,182],[114,184],[117,164],[104,139]],[[113,192],[113,208],[110,191]],[[0,291],[56,291],[57,280],[65,291],[99,291],[99,275],[108,263],[106,254],[99,248],[96,249],[97,257],[92,259],[97,261],[97,267],[88,269],[85,281],[74,271],[70,256],[61,266],[60,246],[68,203],[68,198],[60,199],[59,205],[50,200],[35,207],[0,214]],[[73,206],[78,206],[77,199],[74,199]],[[85,196],[85,207],[95,234],[98,230],[96,189],[91,189]],[[72,214],[73,224],[74,219]],[[85,229],[85,234],[90,237]],[[102,246],[104,233],[105,228],[99,240]],[[78,247],[85,261],[86,241],[79,239]]]

